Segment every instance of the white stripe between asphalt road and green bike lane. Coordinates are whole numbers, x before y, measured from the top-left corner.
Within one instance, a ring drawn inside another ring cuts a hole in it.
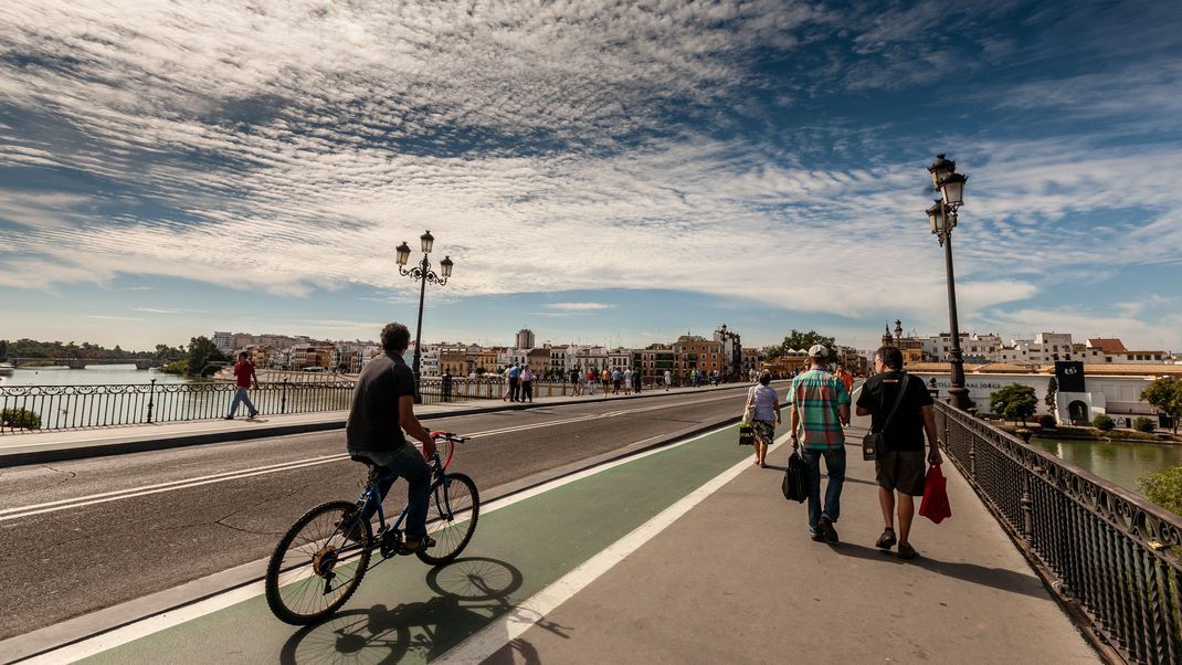
[[[557,489],[557,488],[560,488],[563,485],[566,485],[566,484],[580,481],[583,478],[593,476],[596,474],[600,474],[603,471],[606,471],[608,469],[615,469],[616,467],[619,467],[622,464],[628,464],[629,462],[635,462],[637,459],[643,459],[643,458],[645,458],[645,457],[648,457],[650,455],[656,455],[658,452],[664,452],[667,450],[673,450],[675,448],[680,448],[680,446],[686,445],[688,443],[695,442],[695,441],[697,441],[700,438],[710,436],[713,433],[716,433],[716,432],[720,432],[720,431],[723,431],[723,430],[730,429],[730,428],[732,428],[732,425],[725,425],[722,428],[717,428],[717,429],[710,430],[708,432],[697,435],[695,437],[687,438],[686,441],[680,441],[677,443],[674,443],[674,444],[670,444],[670,445],[665,445],[665,446],[661,446],[661,448],[656,448],[656,449],[652,449],[652,450],[645,450],[643,452],[638,452],[636,455],[631,455],[631,456],[624,457],[622,459],[615,459],[612,462],[608,462],[605,464],[602,464],[602,465],[598,465],[598,467],[595,467],[595,468],[591,468],[591,469],[586,469],[586,470],[579,471],[577,474],[571,474],[570,476],[565,476],[565,477],[561,477],[561,478],[557,478],[557,480],[550,481],[547,483],[543,483],[543,484],[540,484],[540,485],[538,485],[535,488],[531,488],[531,489],[527,489],[525,491],[520,491],[518,494],[514,494],[514,495],[511,495],[511,496],[506,496],[504,498],[499,498],[499,500],[493,501],[493,502],[491,502],[491,503],[488,503],[486,506],[481,506],[480,507],[480,514],[481,515],[487,515],[488,513],[492,513],[494,510],[499,510],[501,508],[507,508],[509,506],[513,506],[514,503],[518,503],[520,501],[525,501],[526,498],[532,498],[532,497],[538,496],[540,494],[545,494],[546,491],[550,491],[552,489]],[[782,441],[786,437],[780,437],[780,439],[777,441],[775,445],[779,445],[780,443],[782,443]],[[749,465],[751,465],[751,459],[743,459],[742,464],[740,464],[738,467],[747,468]],[[729,474],[729,472],[730,471],[727,471],[727,474]],[[723,476],[727,475],[727,474],[723,474]],[[715,478],[715,481],[717,481],[717,478]],[[710,483],[713,483],[715,481],[710,481]],[[710,484],[710,483],[707,483],[707,484]],[[703,485],[703,487],[706,487],[706,485]],[[702,491],[702,488],[699,488],[697,490],[695,490],[695,493],[700,493],[700,491]],[[669,509],[665,510],[665,513],[668,513],[668,511],[669,511]],[[662,515],[664,513],[662,513]],[[660,515],[658,515],[658,517],[660,517]],[[655,519],[656,517],[654,517],[654,520]],[[651,520],[650,520],[650,522],[651,522]],[[645,526],[648,526],[648,524],[645,524]],[[637,530],[641,530],[643,528],[644,528],[644,526],[639,527]],[[632,533],[635,534],[636,532],[632,532]],[[656,534],[654,533],[652,535],[656,535]],[[630,537],[630,536],[625,536],[625,539],[626,537]],[[616,546],[612,546],[612,547],[616,547]],[[584,566],[586,566],[586,563],[584,563]],[[570,575],[567,575],[567,576],[570,576]],[[561,580],[559,580],[559,581],[561,581]],[[553,586],[553,585],[551,585],[551,586]],[[547,587],[547,589],[548,589],[548,587]],[[227,591],[225,593],[221,593],[221,594],[207,598],[207,599],[201,600],[199,602],[194,602],[191,605],[186,605],[186,606],[182,606],[182,607],[177,607],[175,609],[170,609],[168,612],[162,612],[160,614],[154,614],[151,617],[145,617],[145,618],[143,618],[143,619],[141,619],[138,621],[135,621],[132,624],[128,624],[126,626],[122,626],[119,628],[115,628],[113,631],[109,631],[109,632],[100,633],[100,634],[97,634],[97,635],[91,637],[91,638],[86,638],[84,640],[79,640],[77,643],[63,646],[60,648],[54,648],[53,651],[47,651],[47,652],[45,652],[45,653],[43,653],[40,656],[37,656],[37,657],[33,657],[33,658],[31,658],[28,660],[22,660],[21,663],[22,663],[22,665],[24,664],[28,664],[28,665],[33,665],[33,664],[37,664],[37,665],[51,665],[51,664],[54,664],[56,665],[56,664],[59,664],[59,663],[73,663],[76,660],[82,660],[83,658],[90,658],[91,656],[96,656],[98,653],[102,653],[104,651],[115,648],[117,646],[122,646],[122,645],[128,644],[130,641],[134,641],[134,640],[137,640],[137,639],[151,635],[151,634],[157,633],[160,631],[164,631],[164,630],[171,628],[173,626],[177,626],[177,625],[183,624],[186,621],[191,621],[194,619],[200,619],[201,617],[204,617],[207,614],[213,614],[214,612],[219,612],[219,611],[225,609],[227,607],[230,607],[233,605],[238,605],[239,602],[243,602],[243,601],[251,600],[252,598],[260,596],[260,595],[262,595],[265,593],[266,593],[266,589],[265,589],[264,582],[261,580],[256,581],[256,582],[252,582],[249,585],[245,585],[245,586],[241,586],[241,587]],[[543,593],[545,593],[545,592],[543,592]],[[535,595],[534,598],[538,598],[538,596]],[[482,634],[482,633],[476,633],[475,635],[473,635],[473,638],[479,637],[480,634]],[[469,641],[470,641],[470,639],[469,639]],[[462,647],[466,644],[467,644],[467,641],[463,643],[463,644],[461,644],[460,646]]]

